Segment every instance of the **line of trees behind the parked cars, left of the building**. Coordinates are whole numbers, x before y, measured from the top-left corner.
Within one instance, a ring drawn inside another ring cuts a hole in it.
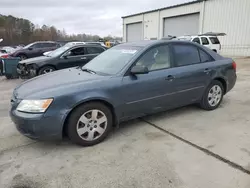
[[[59,30],[54,26],[38,26],[28,19],[5,16],[0,14],[0,46],[29,44],[35,41],[99,41],[121,40],[120,37],[107,36],[101,38],[98,35],[72,34],[68,35],[65,30]]]

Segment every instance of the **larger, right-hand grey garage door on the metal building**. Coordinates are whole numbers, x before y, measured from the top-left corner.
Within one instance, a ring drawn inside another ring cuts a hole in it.
[[[164,37],[168,35],[197,35],[199,33],[200,14],[189,14],[164,19]]]

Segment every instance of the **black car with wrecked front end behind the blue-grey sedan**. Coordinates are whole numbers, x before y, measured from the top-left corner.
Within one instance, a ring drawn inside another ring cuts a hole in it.
[[[17,72],[21,76],[34,77],[59,69],[83,66],[105,50],[96,45],[65,45],[46,56],[20,61]]]

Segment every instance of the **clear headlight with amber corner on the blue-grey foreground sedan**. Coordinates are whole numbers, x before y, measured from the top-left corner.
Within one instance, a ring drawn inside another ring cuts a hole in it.
[[[53,99],[22,100],[17,110],[21,112],[42,113],[48,109],[52,101]]]

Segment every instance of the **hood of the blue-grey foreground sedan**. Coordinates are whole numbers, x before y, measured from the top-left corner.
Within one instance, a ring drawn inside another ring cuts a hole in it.
[[[101,82],[109,79],[110,76],[101,76],[83,72],[81,69],[71,68],[55,71],[46,75],[30,79],[15,89],[15,95],[19,99],[54,97],[52,95],[62,95],[63,92],[73,92],[71,89],[82,89],[90,83]]]

